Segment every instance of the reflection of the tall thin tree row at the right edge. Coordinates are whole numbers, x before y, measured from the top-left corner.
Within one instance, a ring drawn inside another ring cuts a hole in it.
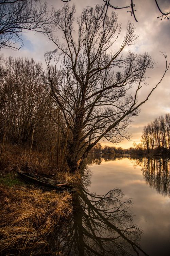
[[[142,173],[147,184],[163,196],[170,196],[169,158],[145,158]]]

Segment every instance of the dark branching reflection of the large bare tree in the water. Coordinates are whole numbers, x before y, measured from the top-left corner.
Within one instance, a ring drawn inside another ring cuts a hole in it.
[[[84,184],[88,184],[86,179]],[[64,255],[139,255],[142,231],[133,225],[131,200],[122,202],[114,188],[103,196],[82,186],[73,199],[73,214],[64,231],[57,233]],[[143,252],[144,255],[147,255]]]

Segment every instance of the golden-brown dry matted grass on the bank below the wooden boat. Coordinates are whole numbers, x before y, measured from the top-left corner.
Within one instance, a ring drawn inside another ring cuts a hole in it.
[[[0,252],[22,255],[47,244],[50,232],[72,212],[72,196],[55,191],[0,186]],[[29,254],[30,255],[30,254]]]

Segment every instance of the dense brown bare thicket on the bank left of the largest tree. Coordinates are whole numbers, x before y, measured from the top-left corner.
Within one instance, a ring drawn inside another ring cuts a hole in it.
[[[42,154],[42,159],[48,156],[51,165],[55,158],[54,148],[56,156],[62,154],[59,151],[63,139],[60,138],[58,122],[55,120],[60,111],[50,90],[44,85],[43,72],[41,63],[33,59],[9,57],[1,64],[1,161],[8,143],[29,148],[28,162],[32,147]],[[55,158],[55,165],[59,165],[58,158]]]

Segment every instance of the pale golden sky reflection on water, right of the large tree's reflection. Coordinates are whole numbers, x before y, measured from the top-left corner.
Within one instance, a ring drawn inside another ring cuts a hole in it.
[[[170,161],[128,157],[106,160],[91,160],[95,163],[89,166],[92,171],[89,191],[102,195],[121,188],[124,200],[132,198],[133,223],[143,230],[142,249],[151,256],[169,255]]]

